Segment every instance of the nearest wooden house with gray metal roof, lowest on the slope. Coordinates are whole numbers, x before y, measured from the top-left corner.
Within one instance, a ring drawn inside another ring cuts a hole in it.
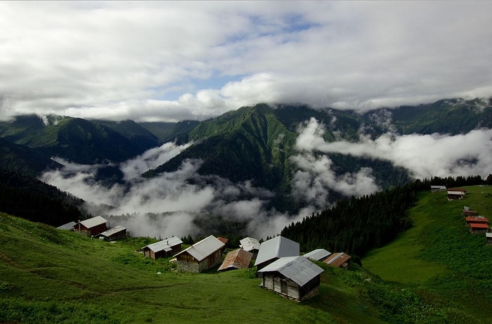
[[[323,269],[305,257],[281,257],[258,271],[261,287],[302,302],[319,292]]]

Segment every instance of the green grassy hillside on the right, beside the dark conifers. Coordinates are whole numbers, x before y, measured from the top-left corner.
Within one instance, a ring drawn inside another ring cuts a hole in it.
[[[371,251],[363,267],[383,280],[403,283],[429,301],[462,309],[451,323],[492,322],[492,247],[485,235],[471,235],[463,206],[492,218],[492,187],[465,187],[463,200],[446,193],[420,193],[410,210],[414,226],[389,245]]]

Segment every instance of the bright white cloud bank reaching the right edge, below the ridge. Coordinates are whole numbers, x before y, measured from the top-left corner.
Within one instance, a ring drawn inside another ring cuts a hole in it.
[[[482,176],[492,169],[492,130],[477,129],[467,134],[396,136],[388,133],[374,140],[361,135],[360,141],[323,139],[323,125],[311,119],[297,140],[297,148],[304,153],[342,153],[358,157],[389,160],[408,169],[417,179],[432,176]]]

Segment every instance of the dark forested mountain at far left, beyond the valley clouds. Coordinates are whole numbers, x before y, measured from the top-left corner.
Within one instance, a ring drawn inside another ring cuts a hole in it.
[[[0,137],[79,164],[122,162],[159,144],[156,136],[132,121],[98,122],[54,115],[25,115],[0,122]]]

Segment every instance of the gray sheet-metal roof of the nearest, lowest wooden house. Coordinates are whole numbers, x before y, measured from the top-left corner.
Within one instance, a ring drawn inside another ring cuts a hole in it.
[[[285,278],[289,278],[294,283],[297,283],[297,285],[304,286],[311,279],[322,273],[323,269],[304,257],[283,257],[268,264],[268,266],[258,272],[278,272],[285,276]]]

